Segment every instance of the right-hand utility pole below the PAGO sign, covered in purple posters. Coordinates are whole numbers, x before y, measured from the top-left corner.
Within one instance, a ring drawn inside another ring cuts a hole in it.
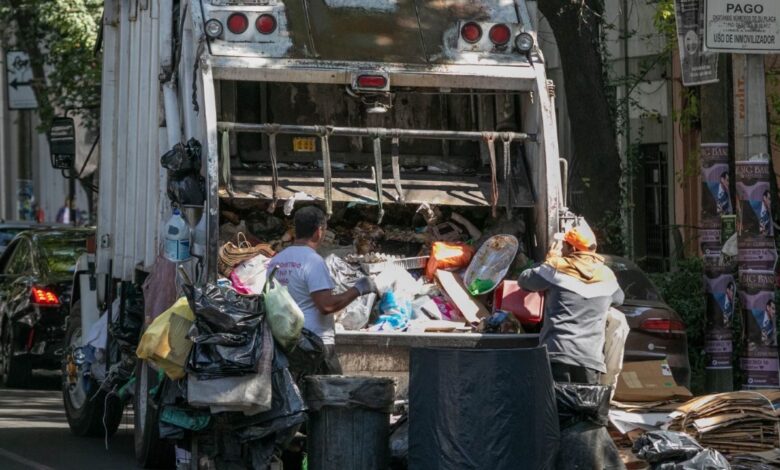
[[[771,207],[764,57],[734,54],[734,143],[737,174],[743,388],[777,388],[775,319],[777,251]]]

